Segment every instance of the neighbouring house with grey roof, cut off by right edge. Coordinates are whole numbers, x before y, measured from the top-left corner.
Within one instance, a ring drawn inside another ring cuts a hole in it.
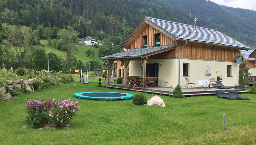
[[[244,60],[247,62],[245,67],[249,67],[249,72],[251,73],[251,76],[256,76],[256,65],[255,65],[255,58],[250,58],[249,55],[255,51],[255,49],[251,49],[248,51],[241,50],[240,53],[243,55]]]

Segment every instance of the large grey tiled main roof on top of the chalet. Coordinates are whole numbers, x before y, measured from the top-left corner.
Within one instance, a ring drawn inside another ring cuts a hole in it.
[[[151,22],[157,24],[167,32],[176,36],[177,39],[185,39],[199,42],[214,43],[226,46],[235,46],[242,48],[250,48],[243,43],[217,31],[214,29],[208,29],[203,27],[196,27],[197,32],[194,32],[194,25],[187,25],[177,22],[171,22],[167,20],[161,20],[151,17],[145,17]]]

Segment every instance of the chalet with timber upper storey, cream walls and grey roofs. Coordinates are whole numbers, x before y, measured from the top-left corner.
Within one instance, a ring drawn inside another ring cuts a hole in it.
[[[168,87],[177,84],[184,87],[185,77],[193,81],[222,77],[224,85],[238,84],[236,56],[239,50],[250,47],[217,30],[197,27],[197,19],[194,21],[195,25],[191,26],[144,17],[121,44],[127,51],[102,59],[109,61],[109,69],[114,61],[121,61],[125,86],[128,72],[129,76],[143,78],[143,88],[146,77],[158,77],[158,86],[168,81]],[[208,62],[212,70],[210,77],[204,76]]]

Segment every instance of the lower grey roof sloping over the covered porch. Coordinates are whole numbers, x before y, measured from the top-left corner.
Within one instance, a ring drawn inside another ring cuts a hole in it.
[[[159,47],[147,47],[147,48],[132,49],[132,50],[128,50],[128,51],[124,51],[124,52],[104,56],[104,57],[102,57],[102,59],[142,58],[143,55],[147,55],[147,54],[150,54],[150,53],[153,53],[153,52],[161,51],[165,48],[175,46],[175,45],[176,45],[176,43],[171,44],[171,45],[162,45],[162,46],[159,46]]]

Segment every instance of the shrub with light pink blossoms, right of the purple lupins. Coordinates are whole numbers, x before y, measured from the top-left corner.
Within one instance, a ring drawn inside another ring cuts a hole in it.
[[[49,116],[52,119],[52,123],[56,126],[66,126],[69,124],[70,120],[73,116],[76,115],[76,111],[80,110],[80,107],[77,102],[64,100],[62,102],[58,102],[55,99],[53,101],[53,108],[50,109]]]

